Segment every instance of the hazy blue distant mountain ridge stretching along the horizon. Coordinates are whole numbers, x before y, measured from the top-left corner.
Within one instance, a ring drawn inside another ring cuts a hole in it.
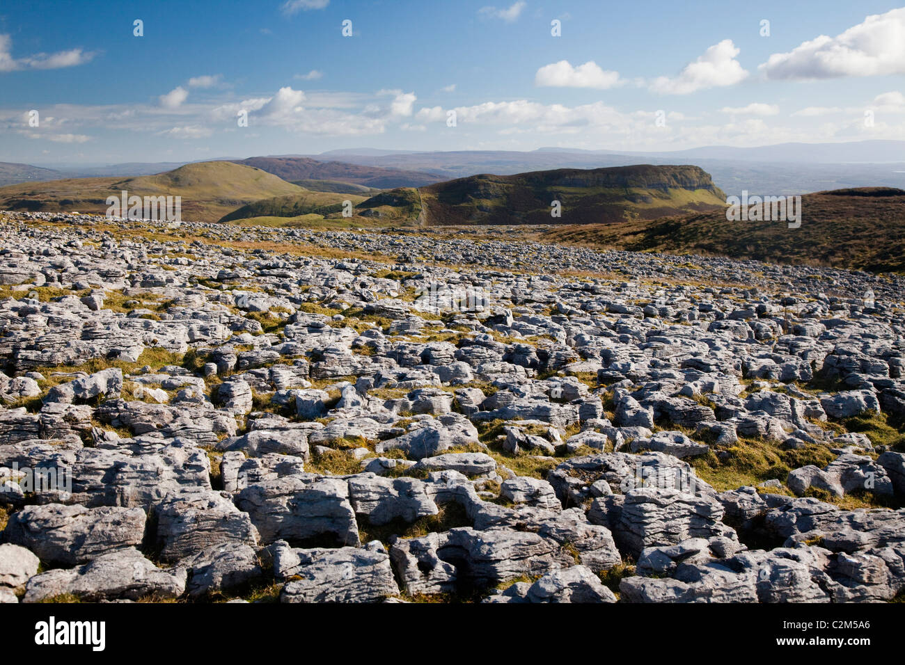
[[[588,169],[640,163],[700,166],[712,176],[720,189],[736,195],[742,190],[757,195],[796,195],[864,186],[905,188],[905,141],[895,140],[785,143],[761,147],[709,146],[661,152],[571,147],[540,147],[525,152],[444,152],[359,147],[331,150],[319,155],[218,157],[205,161],[259,166],[289,182],[309,181],[312,188],[325,186],[314,185],[315,181],[332,181],[374,189],[393,189],[431,185],[452,178],[487,173],[506,176],[557,168]],[[144,176],[185,164],[43,164],[43,170],[32,165],[5,165],[5,176],[4,165],[0,165],[0,185],[68,177]],[[330,190],[342,189],[337,185],[326,186]]]

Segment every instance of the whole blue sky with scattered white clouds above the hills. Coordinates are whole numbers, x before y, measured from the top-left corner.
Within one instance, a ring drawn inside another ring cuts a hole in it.
[[[7,0],[0,161],[905,139],[903,74],[872,0]]]

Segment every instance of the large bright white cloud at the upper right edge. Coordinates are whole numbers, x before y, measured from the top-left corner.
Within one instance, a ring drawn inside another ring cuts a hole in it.
[[[768,79],[905,74],[905,7],[872,14],[835,37],[822,34],[774,53],[758,69]]]

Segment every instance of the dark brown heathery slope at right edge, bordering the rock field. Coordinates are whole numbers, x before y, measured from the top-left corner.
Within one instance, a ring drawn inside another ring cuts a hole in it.
[[[801,226],[729,222],[725,211],[539,233],[547,242],[598,249],[712,254],[759,261],[905,272],[905,190],[839,189],[801,198]]]

